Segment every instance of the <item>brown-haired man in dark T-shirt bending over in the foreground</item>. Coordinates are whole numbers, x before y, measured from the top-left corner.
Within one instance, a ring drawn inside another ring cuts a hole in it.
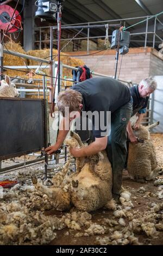
[[[67,123],[80,117],[83,112],[98,113],[98,121],[92,118],[92,131],[95,141],[85,148],[70,148],[70,151],[74,157],[84,157],[106,149],[109,161],[112,164],[112,196],[118,200],[122,185],[122,170],[127,156],[126,129],[133,108],[129,88],[112,78],[91,78],[76,84],[70,90],[60,93],[57,105],[63,118],[57,142],[46,148],[46,153],[48,155],[53,154],[61,147],[70,130],[69,125],[66,127]],[[67,116],[65,114],[66,107],[69,107]],[[103,112],[102,115],[101,112]],[[107,118],[108,112],[111,114],[111,124],[109,124]],[[101,129],[99,124],[104,124],[104,129]],[[108,126],[111,128],[110,135]]]

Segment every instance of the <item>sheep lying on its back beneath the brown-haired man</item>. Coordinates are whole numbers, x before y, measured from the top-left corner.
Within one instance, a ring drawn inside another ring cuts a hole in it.
[[[71,147],[85,147],[80,137],[71,132],[66,139]],[[53,177],[53,186],[40,184],[35,176],[32,182],[37,190],[54,199],[57,210],[70,209],[71,205],[80,211],[93,211],[105,206],[111,200],[112,169],[105,151],[76,160],[77,172],[67,175],[70,159],[60,173]]]

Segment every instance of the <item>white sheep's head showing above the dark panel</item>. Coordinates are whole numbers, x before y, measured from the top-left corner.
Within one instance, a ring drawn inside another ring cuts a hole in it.
[[[5,75],[5,80],[1,81],[0,97],[18,97],[15,83],[11,83],[10,77]]]

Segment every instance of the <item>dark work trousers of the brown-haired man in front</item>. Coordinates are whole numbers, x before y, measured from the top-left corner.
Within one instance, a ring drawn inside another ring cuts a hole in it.
[[[106,152],[112,166],[112,193],[120,195],[122,170],[127,156],[127,124],[133,109],[132,100],[111,114],[111,133],[108,137]]]

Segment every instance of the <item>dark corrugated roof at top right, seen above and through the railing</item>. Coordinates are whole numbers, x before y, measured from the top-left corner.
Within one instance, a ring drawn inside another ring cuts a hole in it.
[[[155,15],[163,11],[162,0],[139,0],[138,2],[141,4],[137,3],[136,0],[65,0],[63,3],[64,10],[62,12],[62,20],[65,19],[66,23],[71,24],[74,23],[74,18],[79,23],[82,23]],[[163,15],[159,16],[159,19],[163,23]],[[127,20],[126,26],[128,27],[141,20],[143,19]],[[151,22],[149,22],[149,25],[150,23]],[[132,27],[130,32],[137,32],[139,29],[140,31],[145,31],[146,22]],[[149,29],[148,31],[153,31],[151,30],[152,27],[149,27]],[[163,29],[161,25],[157,26],[157,34],[163,38],[161,29]],[[101,29],[101,31],[103,34],[104,29]],[[99,32],[99,29],[97,32],[93,29],[92,31],[90,30],[90,35],[101,35]],[[141,35],[140,40],[143,40],[143,38],[145,38],[145,36]],[[136,44],[139,46],[139,42],[136,42]],[[142,43],[140,45],[142,45]],[[152,43],[151,45],[149,44],[149,46],[152,46]]]

